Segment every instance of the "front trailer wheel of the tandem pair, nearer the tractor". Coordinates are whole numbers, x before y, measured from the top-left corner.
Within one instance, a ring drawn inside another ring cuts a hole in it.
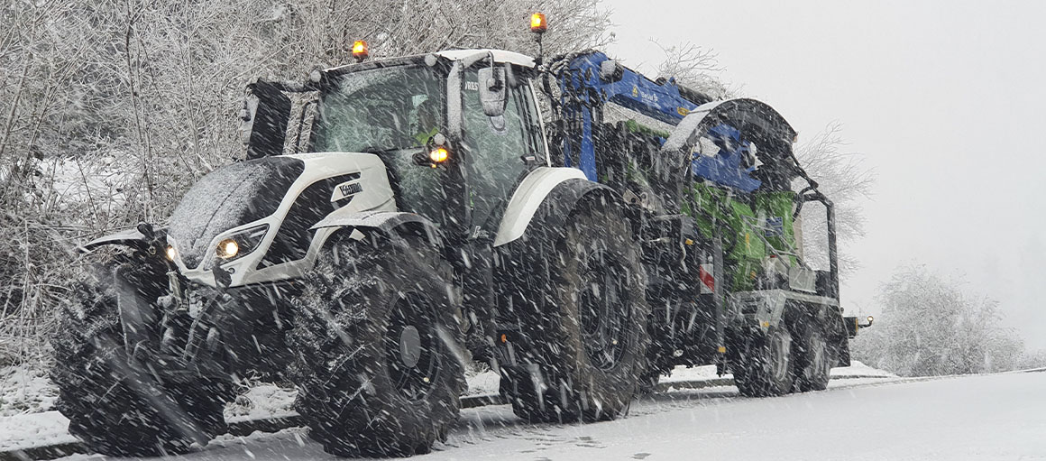
[[[748,338],[733,358],[733,382],[742,395],[767,397],[792,391],[795,383],[794,344],[783,324]]]

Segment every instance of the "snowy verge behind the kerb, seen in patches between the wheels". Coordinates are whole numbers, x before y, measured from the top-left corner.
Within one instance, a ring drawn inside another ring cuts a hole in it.
[[[833,377],[893,377],[894,375],[860,362],[854,366],[836,368]],[[693,383],[717,379],[715,367],[677,367],[670,376],[661,382],[672,387],[673,383]],[[722,376],[729,378],[727,374]],[[492,395],[498,393],[498,375],[493,371],[477,373],[469,377],[467,396]],[[279,418],[296,415],[293,409],[293,389],[271,384],[252,387],[225,409],[229,422]],[[58,397],[58,390],[51,385],[46,373],[24,367],[0,369],[0,452],[25,450],[60,443],[72,443],[76,439],[66,429],[69,420],[51,410]]]

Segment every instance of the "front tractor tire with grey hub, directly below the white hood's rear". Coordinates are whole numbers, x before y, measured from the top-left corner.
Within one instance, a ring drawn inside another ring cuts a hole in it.
[[[451,269],[420,238],[376,245],[333,243],[305,279],[295,408],[327,453],[426,454],[464,390]]]

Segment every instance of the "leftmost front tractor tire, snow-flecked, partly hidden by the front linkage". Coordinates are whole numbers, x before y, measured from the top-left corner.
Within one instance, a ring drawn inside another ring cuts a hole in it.
[[[149,360],[156,342],[136,344],[128,353],[116,291],[119,283],[130,283],[142,298],[155,300],[150,282],[134,278],[147,274],[134,263],[92,266],[76,283],[75,301],[60,313],[51,338],[58,410],[69,418],[69,432],[95,453],[181,454],[226,431],[223,409],[231,384],[159,381],[156,371],[162,365]]]

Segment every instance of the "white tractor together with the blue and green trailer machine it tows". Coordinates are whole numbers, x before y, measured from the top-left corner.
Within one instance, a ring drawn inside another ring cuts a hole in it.
[[[244,160],[165,226],[83,247],[51,376],[92,450],[205,444],[252,375],[292,382],[310,437],[358,457],[445,439],[470,362],[533,422],[616,418],[678,365],[750,396],[848,365],[866,325],[840,307],[833,204],[770,107],[591,50],[366,52],[250,84]],[[827,271],[802,257],[811,202]]]

